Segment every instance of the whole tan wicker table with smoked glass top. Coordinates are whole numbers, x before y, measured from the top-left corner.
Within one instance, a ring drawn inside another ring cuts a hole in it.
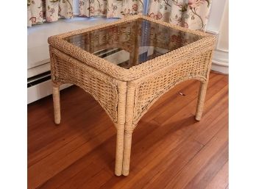
[[[52,36],[54,121],[60,124],[60,85],[71,83],[90,93],[115,124],[115,174],[127,176],[132,132],[163,93],[199,80],[200,120],[215,42],[204,32],[142,15]]]

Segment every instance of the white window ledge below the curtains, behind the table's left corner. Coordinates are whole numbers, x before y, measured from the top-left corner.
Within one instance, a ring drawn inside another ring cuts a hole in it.
[[[117,20],[117,18],[61,18],[59,21],[52,23],[43,23],[29,27],[27,29],[27,68],[34,68],[38,65],[49,63],[49,45],[47,42],[49,36],[115,20]]]

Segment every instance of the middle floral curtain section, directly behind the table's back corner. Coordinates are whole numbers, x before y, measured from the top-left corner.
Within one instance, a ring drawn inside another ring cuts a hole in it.
[[[107,15],[107,18],[123,18],[143,13],[143,0],[79,0],[80,16]]]

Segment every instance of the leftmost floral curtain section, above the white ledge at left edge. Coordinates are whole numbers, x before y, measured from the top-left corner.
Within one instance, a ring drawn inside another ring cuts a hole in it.
[[[73,17],[73,0],[27,0],[27,26]]]

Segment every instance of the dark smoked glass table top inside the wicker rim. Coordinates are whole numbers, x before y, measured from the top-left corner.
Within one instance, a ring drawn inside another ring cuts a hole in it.
[[[139,18],[69,36],[64,40],[110,63],[131,68],[201,38]]]

